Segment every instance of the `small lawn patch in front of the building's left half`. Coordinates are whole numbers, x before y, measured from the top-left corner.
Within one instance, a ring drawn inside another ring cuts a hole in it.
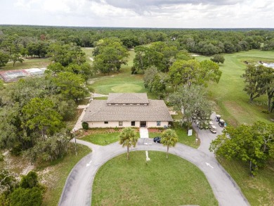
[[[89,141],[100,146],[106,146],[110,143],[115,143],[119,141],[119,132],[112,132],[106,134],[89,134],[87,136],[81,137],[81,140]]]

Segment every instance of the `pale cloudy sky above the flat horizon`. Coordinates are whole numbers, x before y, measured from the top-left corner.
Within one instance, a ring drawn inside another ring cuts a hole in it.
[[[274,1],[0,0],[0,25],[274,28]]]

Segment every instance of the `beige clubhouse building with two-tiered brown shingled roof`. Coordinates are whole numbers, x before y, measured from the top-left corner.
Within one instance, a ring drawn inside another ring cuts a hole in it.
[[[168,127],[172,122],[162,100],[145,93],[110,93],[107,100],[92,100],[81,122],[93,127]]]

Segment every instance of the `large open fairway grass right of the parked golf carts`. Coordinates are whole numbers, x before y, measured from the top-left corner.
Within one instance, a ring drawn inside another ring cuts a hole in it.
[[[197,56],[197,60],[211,57]],[[274,51],[242,51],[239,53],[225,54],[225,62],[220,64],[223,72],[218,84],[209,84],[210,98],[218,105],[216,112],[222,115],[222,119],[234,126],[238,124],[252,124],[256,121],[270,122],[274,119],[274,113],[266,114],[267,96],[254,99],[254,104],[249,104],[249,96],[243,91],[244,79],[240,77],[247,67],[244,61],[258,62],[259,60],[274,62]]]

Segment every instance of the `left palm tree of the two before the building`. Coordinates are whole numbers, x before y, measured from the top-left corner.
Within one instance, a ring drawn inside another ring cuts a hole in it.
[[[127,148],[126,156],[127,160],[129,160],[129,148],[131,146],[135,148],[136,143],[138,141],[138,136],[136,136],[136,132],[133,129],[131,129],[131,127],[126,127],[122,130],[119,138],[119,144],[122,145],[123,148],[124,146],[126,146]]]

